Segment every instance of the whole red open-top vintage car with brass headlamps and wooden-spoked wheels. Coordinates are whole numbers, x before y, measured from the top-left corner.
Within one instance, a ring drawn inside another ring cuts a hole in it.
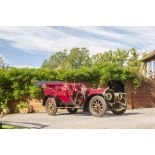
[[[105,88],[86,88],[82,83],[67,82],[43,82],[44,98],[43,106],[49,115],[55,115],[58,108],[66,108],[70,113],[77,109],[90,109],[90,112],[97,117],[105,114],[111,109],[113,113],[122,114],[126,110],[126,103],[123,93],[114,93],[113,90]],[[125,104],[125,106],[124,106]],[[125,110],[117,112],[114,107],[125,107]]]

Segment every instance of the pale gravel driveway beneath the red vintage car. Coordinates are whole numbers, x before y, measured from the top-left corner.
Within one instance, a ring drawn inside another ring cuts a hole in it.
[[[150,129],[155,128],[155,108],[127,110],[121,116],[107,112],[102,118],[83,112],[68,114],[66,110],[56,116],[46,113],[8,114],[0,121],[37,129]]]

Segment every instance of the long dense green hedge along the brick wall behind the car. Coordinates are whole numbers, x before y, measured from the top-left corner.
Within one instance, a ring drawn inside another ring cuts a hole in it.
[[[0,69],[0,101],[42,97],[41,88],[34,86],[35,81],[89,82],[92,85],[99,83],[102,86],[106,81],[112,79],[123,82],[130,80],[134,83],[137,77],[138,75],[130,72],[128,68],[120,68],[114,64],[64,71],[44,68]]]

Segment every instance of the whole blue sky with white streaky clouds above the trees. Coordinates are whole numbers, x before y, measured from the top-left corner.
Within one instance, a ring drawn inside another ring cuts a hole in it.
[[[155,49],[155,27],[0,26],[0,56],[9,66],[40,67],[57,51],[86,47],[91,54],[109,49]]]

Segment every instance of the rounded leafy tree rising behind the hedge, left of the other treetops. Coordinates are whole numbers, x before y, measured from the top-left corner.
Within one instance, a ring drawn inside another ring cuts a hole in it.
[[[86,48],[73,48],[67,53],[66,50],[53,54],[48,60],[45,59],[42,68],[52,68],[56,70],[78,69],[91,65],[89,51]]]

